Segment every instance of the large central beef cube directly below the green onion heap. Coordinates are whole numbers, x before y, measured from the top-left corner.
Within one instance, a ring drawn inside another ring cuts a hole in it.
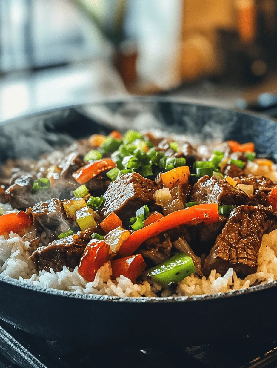
[[[123,174],[110,184],[104,194],[101,214],[107,216],[114,212],[123,223],[128,224],[136,210],[153,202],[153,194],[157,189],[160,189],[159,185],[138,173]]]

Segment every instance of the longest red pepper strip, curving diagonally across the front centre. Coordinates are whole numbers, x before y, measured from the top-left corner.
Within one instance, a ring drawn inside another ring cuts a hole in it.
[[[179,225],[187,223],[198,224],[200,222],[211,224],[218,221],[218,219],[219,209],[215,203],[195,205],[172,212],[162,219],[132,233],[121,245],[118,253],[121,256],[131,255],[145,240]]]

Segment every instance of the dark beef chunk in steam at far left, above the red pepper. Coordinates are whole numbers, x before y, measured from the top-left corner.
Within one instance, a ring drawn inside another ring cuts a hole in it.
[[[25,210],[32,207],[38,196],[32,193],[33,182],[37,179],[35,175],[28,174],[17,178],[14,184],[6,189],[5,197],[13,208]]]

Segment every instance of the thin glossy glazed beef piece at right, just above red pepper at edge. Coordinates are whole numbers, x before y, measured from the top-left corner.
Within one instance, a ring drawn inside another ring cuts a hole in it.
[[[254,195],[250,199],[249,204],[257,206],[259,204],[267,206],[267,194],[276,186],[276,183],[270,179],[260,175],[248,175],[234,177],[238,184],[252,185],[254,188]]]

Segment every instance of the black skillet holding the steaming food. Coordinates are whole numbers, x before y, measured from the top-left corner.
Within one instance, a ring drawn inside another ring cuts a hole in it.
[[[160,124],[169,132],[197,134],[201,139],[253,141],[258,153],[277,159],[276,121],[165,98],[96,103],[3,123],[0,159],[37,157],[51,147],[69,144],[70,136],[105,133],[132,123],[135,129]],[[274,332],[276,285],[271,282],[208,296],[120,298],[42,289],[0,275],[0,318],[35,335],[70,344],[189,346],[250,332]],[[226,343],[231,352],[232,343]]]

